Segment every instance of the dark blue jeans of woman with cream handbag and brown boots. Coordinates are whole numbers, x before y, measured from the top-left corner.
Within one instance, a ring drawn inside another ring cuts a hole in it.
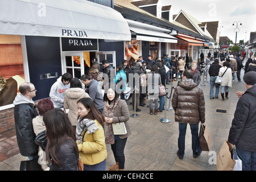
[[[118,162],[119,169],[125,168],[125,144],[126,144],[127,138],[119,138],[115,139],[115,143],[111,144],[111,149],[114,154],[115,162]]]

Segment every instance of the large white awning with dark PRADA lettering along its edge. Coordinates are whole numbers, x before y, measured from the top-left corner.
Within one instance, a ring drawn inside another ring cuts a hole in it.
[[[1,0],[0,34],[131,40],[118,11],[82,0]]]

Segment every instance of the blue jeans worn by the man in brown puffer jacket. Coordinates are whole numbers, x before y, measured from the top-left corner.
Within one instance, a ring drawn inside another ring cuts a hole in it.
[[[197,142],[198,142],[198,129],[199,124],[189,124],[192,134],[192,151],[193,156],[197,156],[198,153],[196,152],[197,149]],[[179,152],[178,155],[183,158],[185,152],[185,135],[187,131],[187,123],[179,123],[179,138],[178,138],[178,148]]]

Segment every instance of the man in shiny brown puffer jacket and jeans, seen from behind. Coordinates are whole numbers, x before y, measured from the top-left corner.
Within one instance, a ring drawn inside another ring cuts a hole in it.
[[[198,142],[199,122],[205,122],[205,102],[204,93],[192,80],[193,72],[185,69],[183,73],[184,81],[176,87],[172,96],[172,107],[175,110],[175,121],[179,122],[179,138],[177,156],[183,159],[185,151],[185,134],[187,123],[190,125],[192,133],[193,158],[197,158],[200,153],[196,152]]]

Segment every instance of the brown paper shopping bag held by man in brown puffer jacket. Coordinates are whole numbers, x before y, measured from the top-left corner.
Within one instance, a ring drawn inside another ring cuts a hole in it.
[[[212,137],[210,137],[210,131],[205,125],[201,125],[201,133],[199,135],[199,141],[202,151],[210,151],[210,144],[212,143]]]

